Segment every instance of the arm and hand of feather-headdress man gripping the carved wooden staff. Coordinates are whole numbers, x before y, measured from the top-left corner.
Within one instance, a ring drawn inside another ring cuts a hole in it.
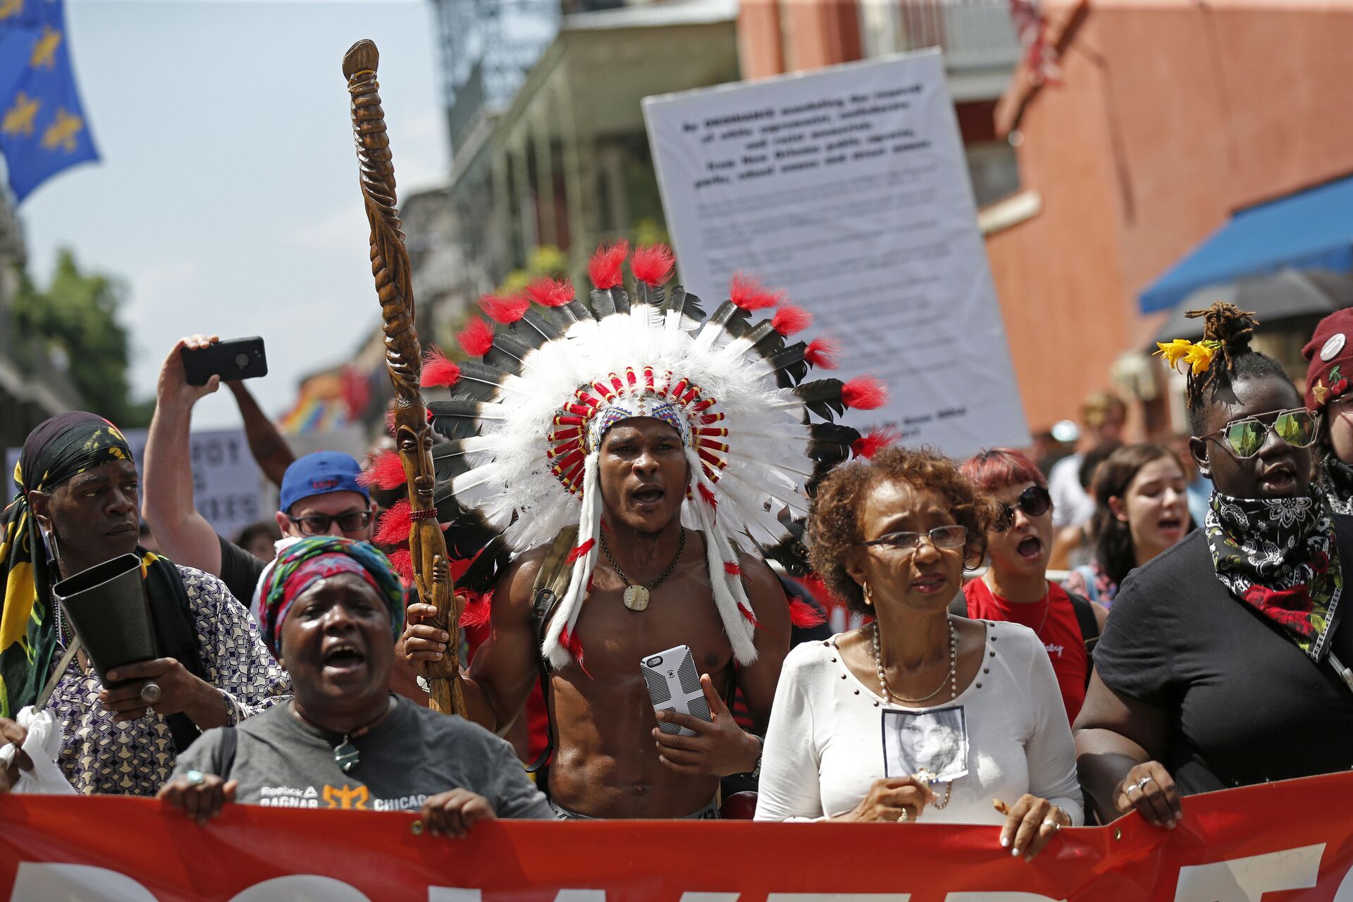
[[[526,703],[540,678],[536,667],[536,633],[530,626],[532,588],[548,548],[534,549],[513,561],[494,590],[488,638],[461,684],[467,715],[499,736],[505,734]],[[410,661],[437,660],[446,650],[448,634],[421,621],[434,613],[430,604],[409,606],[405,656]]]

